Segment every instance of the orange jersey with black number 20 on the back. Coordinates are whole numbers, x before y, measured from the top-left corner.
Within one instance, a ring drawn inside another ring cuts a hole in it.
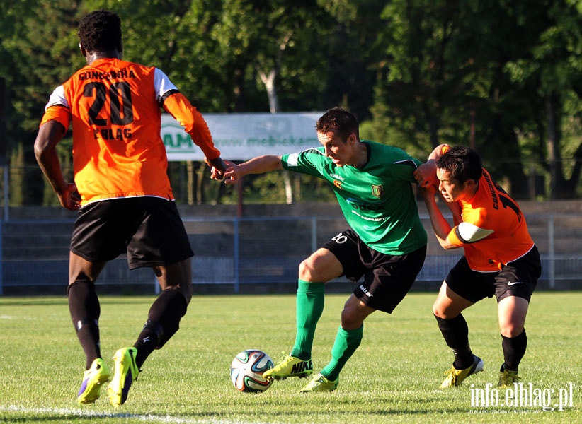
[[[84,66],[52,93],[40,125],[72,120],[74,182],[81,206],[131,196],[173,200],[161,140],[161,107],[209,159],[220,152],[198,110],[154,67],[120,59]]]

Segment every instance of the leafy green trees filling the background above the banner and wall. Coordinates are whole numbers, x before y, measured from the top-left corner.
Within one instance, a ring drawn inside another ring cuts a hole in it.
[[[202,113],[343,105],[363,138],[418,158],[474,146],[516,196],[543,193],[540,176],[549,198],[582,194],[580,0],[22,0],[0,2],[15,206],[56,204],[33,140],[50,92],[84,65],[76,26],[97,8],[120,14],[124,59],[164,70]],[[70,172],[70,139],[60,147]],[[178,201],[236,201],[205,165],[169,172]],[[318,181],[300,180],[295,199],[316,197]],[[285,199],[275,176],[246,190]]]

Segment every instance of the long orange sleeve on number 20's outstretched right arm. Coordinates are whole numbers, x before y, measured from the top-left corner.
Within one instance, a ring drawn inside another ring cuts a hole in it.
[[[182,93],[173,93],[164,100],[164,109],[171,114],[184,131],[190,134],[192,141],[200,147],[206,158],[216,159],[220,156],[220,151],[215,148],[210,135],[210,129],[202,114],[190,104],[186,96]]]

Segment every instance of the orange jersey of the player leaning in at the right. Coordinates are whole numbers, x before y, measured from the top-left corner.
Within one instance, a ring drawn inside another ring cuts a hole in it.
[[[532,249],[534,242],[518,204],[493,182],[486,170],[475,195],[469,201],[460,201],[460,206],[462,223],[455,225],[447,238],[464,248],[474,271],[498,271]]]

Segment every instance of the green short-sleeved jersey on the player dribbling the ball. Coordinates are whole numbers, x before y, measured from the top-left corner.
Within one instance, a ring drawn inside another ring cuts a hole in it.
[[[372,249],[411,253],[427,240],[412,189],[421,161],[393,146],[362,142],[369,160],[361,169],[335,165],[323,147],[283,155],[283,168],[328,181],[348,224]]]

